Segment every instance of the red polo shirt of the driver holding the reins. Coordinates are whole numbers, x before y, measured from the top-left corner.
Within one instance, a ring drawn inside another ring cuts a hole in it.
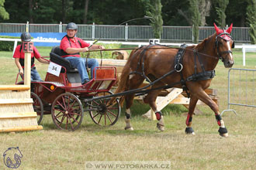
[[[81,45],[80,45],[80,43]],[[74,39],[68,39],[67,36],[64,36],[64,38],[61,40],[61,46],[60,49],[63,49],[64,51],[66,51],[66,49],[68,47],[71,48],[84,48],[84,47],[88,47],[90,46],[90,44],[88,42],[85,42],[82,39],[79,39],[78,37],[74,37]],[[76,57],[80,57],[80,54],[68,54],[62,57],[66,57],[66,56],[76,56]]]

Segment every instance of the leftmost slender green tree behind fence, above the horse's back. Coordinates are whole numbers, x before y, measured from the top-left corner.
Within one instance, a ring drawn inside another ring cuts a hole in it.
[[[148,4],[148,10],[146,14],[154,18],[154,23],[150,25],[154,29],[154,38],[161,39],[161,33],[163,31],[163,19],[161,16],[161,0],[150,0]]]

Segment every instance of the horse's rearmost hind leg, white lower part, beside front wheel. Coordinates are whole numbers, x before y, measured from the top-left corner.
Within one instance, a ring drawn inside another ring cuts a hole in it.
[[[140,75],[134,75],[134,74],[130,75],[129,89],[127,90],[137,89],[138,87],[140,87],[143,81],[144,81],[144,78],[142,78]],[[125,100],[126,100],[126,113],[125,113],[126,127],[124,128],[125,130],[133,131],[133,127],[130,124],[130,118],[131,118],[130,107],[133,105],[134,96],[135,96],[134,93],[131,93],[125,96]]]

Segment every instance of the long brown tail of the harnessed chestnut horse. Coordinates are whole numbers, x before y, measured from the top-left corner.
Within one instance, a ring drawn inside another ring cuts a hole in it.
[[[118,80],[118,87],[115,91],[115,93],[121,93],[123,91],[125,91],[127,89],[127,87],[129,87],[129,76],[130,76],[130,63],[131,63],[131,59],[133,56],[133,53],[136,50],[133,49],[133,51],[130,53],[130,56],[126,62],[126,64],[123,66],[123,71],[121,76],[119,76],[119,80]],[[116,100],[116,97],[112,97],[112,99],[110,100],[110,103],[112,103],[112,101]],[[123,100],[124,100],[124,96],[120,97],[120,104],[123,104]]]

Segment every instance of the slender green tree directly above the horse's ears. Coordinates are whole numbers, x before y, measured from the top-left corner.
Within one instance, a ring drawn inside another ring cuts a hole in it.
[[[217,25],[224,28],[226,26],[226,8],[229,3],[229,0],[216,0],[217,7],[216,7],[216,13],[217,13],[217,19],[215,20]]]

